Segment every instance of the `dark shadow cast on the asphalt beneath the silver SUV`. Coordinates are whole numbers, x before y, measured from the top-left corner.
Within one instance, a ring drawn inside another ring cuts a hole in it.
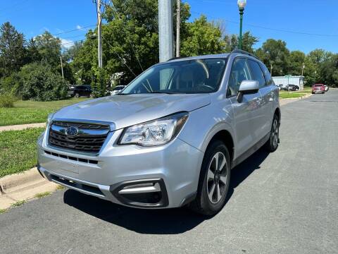
[[[253,171],[260,169],[260,164],[267,156],[267,152],[259,150],[232,169],[227,200],[234,193],[234,188],[239,186]],[[194,229],[204,220],[211,218],[196,214],[187,208],[142,210],[124,207],[73,190],[65,191],[63,201],[82,212],[139,234],[180,234]]]

